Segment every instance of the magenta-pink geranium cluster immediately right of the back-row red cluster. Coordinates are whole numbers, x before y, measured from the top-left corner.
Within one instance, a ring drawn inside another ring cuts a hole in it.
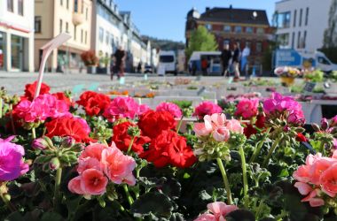
[[[104,112],[106,118],[135,118],[139,113],[139,105],[132,97],[118,96]]]

